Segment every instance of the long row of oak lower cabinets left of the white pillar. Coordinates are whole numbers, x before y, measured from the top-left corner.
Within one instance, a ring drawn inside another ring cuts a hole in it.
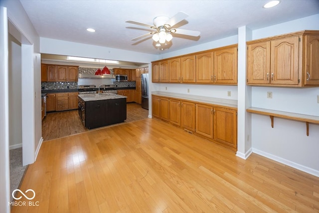
[[[237,109],[152,95],[153,117],[237,150]]]

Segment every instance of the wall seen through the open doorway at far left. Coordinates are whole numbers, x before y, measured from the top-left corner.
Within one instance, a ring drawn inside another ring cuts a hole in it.
[[[9,148],[22,147],[21,43],[9,34]]]

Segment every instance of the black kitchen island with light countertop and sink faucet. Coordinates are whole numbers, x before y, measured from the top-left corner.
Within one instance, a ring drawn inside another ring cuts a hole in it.
[[[79,94],[79,116],[88,129],[126,120],[126,96],[113,93]]]

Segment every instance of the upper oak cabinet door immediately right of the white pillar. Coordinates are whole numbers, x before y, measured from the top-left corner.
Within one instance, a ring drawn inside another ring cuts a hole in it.
[[[270,41],[248,45],[247,83],[270,83]]]

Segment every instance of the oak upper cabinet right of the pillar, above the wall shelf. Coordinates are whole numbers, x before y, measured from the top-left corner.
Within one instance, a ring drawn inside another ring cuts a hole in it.
[[[247,84],[319,86],[319,31],[304,30],[247,42]]]

